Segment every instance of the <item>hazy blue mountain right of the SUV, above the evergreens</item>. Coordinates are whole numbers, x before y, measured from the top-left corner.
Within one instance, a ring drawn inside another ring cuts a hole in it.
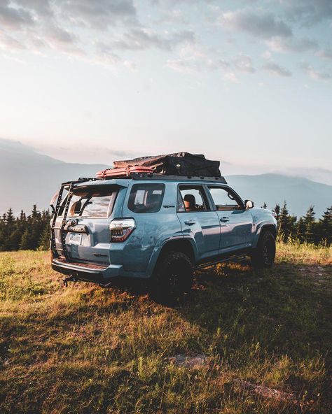
[[[268,173],[228,176],[226,180],[243,199],[254,201],[256,207],[261,207],[265,202],[272,209],[275,204],[283,204],[285,200],[290,213],[304,215],[309,206],[314,206],[319,217],[326,207],[332,205],[332,186],[307,178]]]

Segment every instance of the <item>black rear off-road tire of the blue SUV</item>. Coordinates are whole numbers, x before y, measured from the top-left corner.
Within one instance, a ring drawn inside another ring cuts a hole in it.
[[[157,301],[183,299],[193,285],[193,265],[188,256],[169,252],[155,269],[151,280],[150,296]]]

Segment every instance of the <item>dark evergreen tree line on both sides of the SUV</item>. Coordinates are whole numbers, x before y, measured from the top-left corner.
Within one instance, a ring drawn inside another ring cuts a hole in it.
[[[267,208],[266,204],[262,208]],[[332,244],[332,206],[326,208],[319,220],[316,220],[312,206],[299,218],[289,214],[286,202],[282,207],[277,204],[273,211],[282,241]],[[36,205],[29,215],[21,211],[18,217],[10,208],[0,218],[0,251],[47,250],[50,246],[50,219],[50,211],[39,211]]]

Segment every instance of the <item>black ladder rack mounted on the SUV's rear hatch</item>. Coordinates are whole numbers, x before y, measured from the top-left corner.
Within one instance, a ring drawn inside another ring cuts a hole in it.
[[[78,178],[76,181],[67,181],[67,183],[62,183],[59,195],[57,196],[57,205],[55,206],[55,211],[53,211],[53,218],[52,218],[52,224],[50,227],[50,251],[54,254],[56,252],[56,255],[58,257],[64,257],[64,259],[69,260],[67,249],[66,249],[66,234],[64,232],[64,227],[67,224],[67,214],[69,210],[69,204],[71,201],[71,197],[73,197],[73,188],[74,185],[78,183],[84,183],[86,181],[97,181],[99,178]],[[55,222],[57,220],[57,213],[60,209],[61,203],[62,203],[62,194],[64,192],[64,189],[69,186],[66,204],[64,206],[64,215],[62,217],[62,223],[60,227],[55,227]],[[61,240],[61,248],[57,248],[55,243],[55,230],[60,230],[60,240]],[[60,252],[60,254],[59,254]]]

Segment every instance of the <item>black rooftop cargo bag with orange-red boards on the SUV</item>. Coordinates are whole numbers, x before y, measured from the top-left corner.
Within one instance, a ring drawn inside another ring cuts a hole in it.
[[[166,176],[221,177],[219,161],[211,161],[204,155],[189,152],[114,161],[115,169],[128,166],[144,166],[152,169],[153,173]]]

